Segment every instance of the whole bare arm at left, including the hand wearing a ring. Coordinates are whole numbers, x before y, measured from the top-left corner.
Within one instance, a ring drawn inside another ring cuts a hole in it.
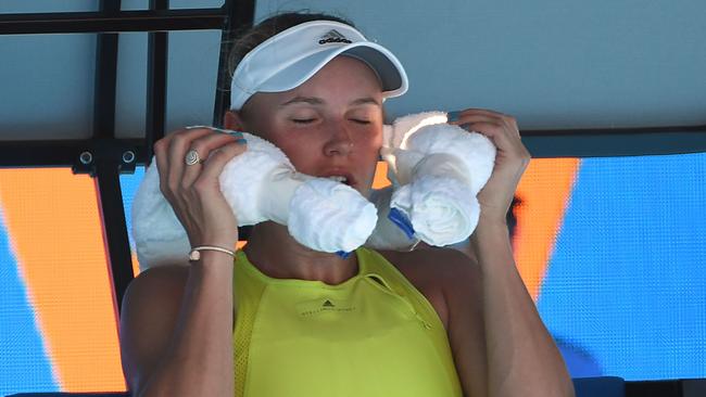
[[[185,165],[188,150],[204,163]],[[217,176],[244,146],[182,130],[155,146],[161,190],[192,246],[235,247],[237,222]],[[123,368],[137,396],[232,396],[232,258],[205,251],[187,269],[153,269],[128,289],[121,318]]]

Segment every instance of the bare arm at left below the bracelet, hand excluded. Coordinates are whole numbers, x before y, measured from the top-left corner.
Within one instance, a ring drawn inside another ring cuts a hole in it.
[[[232,396],[232,265],[211,255],[148,270],[121,317],[123,369],[135,396]]]

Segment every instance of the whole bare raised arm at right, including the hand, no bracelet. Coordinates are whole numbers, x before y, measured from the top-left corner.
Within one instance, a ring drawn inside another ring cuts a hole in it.
[[[564,360],[517,271],[505,221],[529,164],[517,124],[482,110],[464,111],[456,123],[486,135],[497,148],[493,175],[478,195],[481,217],[470,239],[477,264],[462,260],[464,279],[479,289],[469,292],[468,285],[454,284],[450,297],[451,343],[464,388],[472,397],[573,396]],[[474,343],[481,333],[482,343]],[[478,355],[471,348],[479,346],[486,349],[484,368],[468,357]]]

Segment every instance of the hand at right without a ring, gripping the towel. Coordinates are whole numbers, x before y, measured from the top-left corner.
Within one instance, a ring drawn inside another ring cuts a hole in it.
[[[468,108],[449,121],[488,137],[497,148],[488,183],[478,193],[481,219],[505,222],[517,184],[530,162],[514,117],[487,110]]]

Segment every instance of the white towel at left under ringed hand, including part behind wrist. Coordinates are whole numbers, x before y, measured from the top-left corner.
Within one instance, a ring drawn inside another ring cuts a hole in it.
[[[350,252],[373,232],[375,206],[353,188],[297,172],[274,144],[243,133],[248,150],[225,166],[218,180],[239,226],[274,220],[301,244]],[[186,231],[162,195],[156,167],[148,168],[133,203],[133,233],[140,266],[185,262]]]

